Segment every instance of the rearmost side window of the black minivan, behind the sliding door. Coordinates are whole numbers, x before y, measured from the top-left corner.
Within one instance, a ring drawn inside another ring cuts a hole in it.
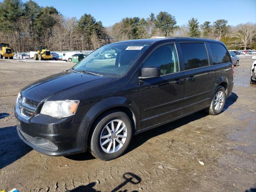
[[[222,44],[209,42],[209,46],[212,52],[214,65],[230,62],[228,51]]]

